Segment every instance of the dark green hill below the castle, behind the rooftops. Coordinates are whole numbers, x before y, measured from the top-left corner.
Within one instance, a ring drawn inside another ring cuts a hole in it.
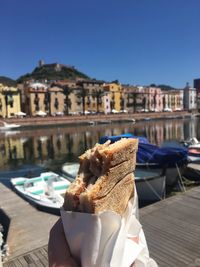
[[[72,66],[55,63],[36,67],[32,73],[27,73],[19,77],[17,82],[22,83],[29,79],[52,81],[64,79],[74,80],[76,78],[88,79],[89,77]]]

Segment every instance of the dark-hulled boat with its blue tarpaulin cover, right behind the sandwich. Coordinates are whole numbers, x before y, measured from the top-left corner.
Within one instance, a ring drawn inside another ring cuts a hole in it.
[[[106,141],[111,143],[121,138],[138,139],[138,151],[136,156],[136,169],[149,171],[156,169],[166,176],[166,186],[172,187],[181,178],[181,173],[187,163],[188,151],[182,147],[158,147],[149,143],[146,137],[135,136],[132,133],[126,133],[116,136],[103,136],[99,143]]]

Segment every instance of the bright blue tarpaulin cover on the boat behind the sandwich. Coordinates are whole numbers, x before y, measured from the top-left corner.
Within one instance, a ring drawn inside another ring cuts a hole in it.
[[[114,143],[121,138],[136,138],[139,140],[137,163],[153,163],[161,168],[181,166],[187,162],[187,149],[181,147],[158,147],[150,144],[145,137],[135,136],[131,133],[116,136],[104,136],[100,139],[100,144],[110,140]]]

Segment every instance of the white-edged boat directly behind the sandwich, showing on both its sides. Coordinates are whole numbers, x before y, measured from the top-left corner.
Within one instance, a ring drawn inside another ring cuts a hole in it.
[[[62,166],[63,175],[73,181],[79,170],[79,163],[65,163]],[[165,197],[166,177],[157,170],[135,170],[135,183],[139,201],[154,202]]]

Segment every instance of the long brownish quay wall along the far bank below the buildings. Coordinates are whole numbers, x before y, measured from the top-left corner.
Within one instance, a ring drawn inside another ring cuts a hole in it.
[[[159,120],[159,119],[176,119],[192,118],[199,114],[192,114],[187,111],[182,112],[160,112],[160,113],[134,113],[134,114],[99,114],[99,115],[74,115],[74,116],[57,116],[57,117],[26,117],[26,118],[9,118],[2,119],[7,123],[17,123],[23,127],[32,126],[56,126],[56,125],[95,125],[106,123],[123,123],[137,122],[141,120]]]

